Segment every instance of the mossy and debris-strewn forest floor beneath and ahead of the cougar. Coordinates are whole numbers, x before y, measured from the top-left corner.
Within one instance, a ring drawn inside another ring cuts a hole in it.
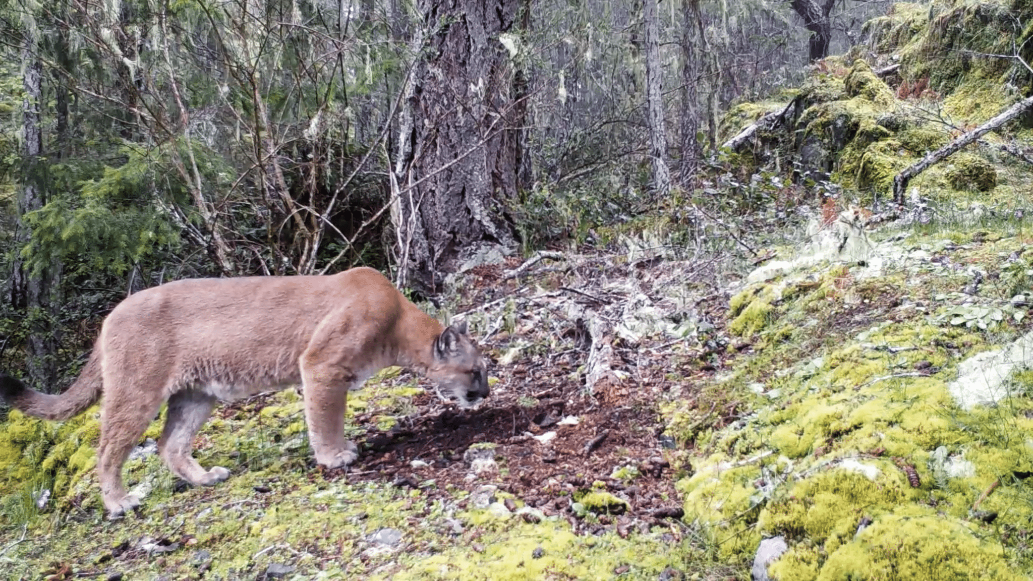
[[[706,557],[682,521],[676,483],[691,466],[665,431],[664,406],[696,398],[738,355],[721,338],[721,263],[608,246],[516,276],[520,258],[462,275],[447,310],[493,361],[492,395],[475,408],[388,369],[349,397],[358,461],[324,470],[296,391],[224,404],[195,455],[228,467],[228,482],[191,488],[144,442],[127,463],[129,485],[149,491],[135,514],[103,520],[87,473],[58,512],[0,531],[0,569],[50,580],[744,578]],[[715,428],[740,414],[734,400],[709,409]]]

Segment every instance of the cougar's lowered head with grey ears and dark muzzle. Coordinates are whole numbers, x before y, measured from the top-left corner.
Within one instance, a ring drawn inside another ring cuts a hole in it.
[[[480,349],[466,333],[466,322],[450,325],[434,339],[434,363],[428,369],[438,395],[469,407],[488,397],[488,368]]]

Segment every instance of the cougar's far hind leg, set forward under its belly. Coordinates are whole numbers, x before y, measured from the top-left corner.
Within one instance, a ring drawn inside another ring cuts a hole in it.
[[[173,473],[194,486],[212,486],[229,478],[226,468],[206,470],[191,456],[193,438],[208,421],[215,401],[214,396],[197,390],[183,390],[168,398],[158,451]]]

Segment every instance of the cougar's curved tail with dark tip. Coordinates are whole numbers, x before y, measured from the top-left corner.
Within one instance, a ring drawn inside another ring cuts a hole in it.
[[[23,414],[44,420],[67,420],[82,414],[100,399],[101,355],[97,343],[94,343],[90,360],[79,378],[63,394],[41,394],[10,375],[0,373],[0,397]]]

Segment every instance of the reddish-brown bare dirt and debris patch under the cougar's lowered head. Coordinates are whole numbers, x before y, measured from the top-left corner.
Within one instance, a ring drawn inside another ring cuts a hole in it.
[[[552,287],[578,305],[595,307],[603,301],[616,304],[621,299],[613,290],[585,284],[581,293],[570,290],[573,286],[563,286],[560,277],[576,275],[572,272],[575,268],[546,268],[547,276],[553,277]],[[595,280],[605,278],[598,262],[592,268]],[[650,269],[657,272],[648,273]],[[676,272],[669,263],[661,261],[638,270],[650,283],[662,281],[663,273]],[[527,287],[526,280],[506,282],[499,280],[502,276],[503,269],[483,268],[471,273],[467,286],[470,292],[466,294],[467,299],[472,299],[469,304],[516,296]],[[651,285],[643,286],[649,290],[647,286]],[[700,308],[713,311],[706,313],[710,320],[720,322],[724,301],[710,300],[714,297],[709,295],[700,301]],[[536,301],[531,299],[529,304]],[[419,380],[425,393],[413,397],[415,411],[401,418],[392,429],[375,427],[375,411],[351,419],[367,431],[358,438],[363,451],[359,460],[347,471],[324,471],[314,464],[312,469],[328,480],[372,480],[419,487],[432,498],[451,496],[450,490],[474,491],[491,484],[546,516],[565,515],[580,533],[616,529],[626,534],[632,527],[667,527],[680,522],[682,501],[675,481],[688,473],[691,466],[671,465],[675,442],[664,434],[658,404],[676,384],[681,387],[682,397],[691,394],[694,381],[685,377],[701,384],[726,368],[731,355],[715,349],[707,357],[682,357],[685,365],[674,369],[669,349],[679,341],[671,341],[669,336],[645,337],[633,346],[615,338],[611,366],[622,379],[597,385],[595,393],[589,394],[585,366],[591,340],[586,338],[584,323],[569,320],[560,326],[560,331],[554,326],[553,332],[546,334],[523,324],[518,315],[514,326],[513,333],[492,333],[482,342],[486,353],[498,357],[515,344],[549,347],[528,347],[527,355],[511,364],[492,366],[490,373],[499,381],[480,406],[460,409],[442,402],[430,383]],[[395,380],[406,383],[413,377],[403,374]],[[715,419],[717,424],[733,420],[733,406],[724,411]],[[494,447],[488,456],[493,457],[495,466],[477,473],[467,451],[486,446]],[[586,513],[573,502],[592,491],[605,491],[627,501],[626,510],[620,515],[585,518]]]

